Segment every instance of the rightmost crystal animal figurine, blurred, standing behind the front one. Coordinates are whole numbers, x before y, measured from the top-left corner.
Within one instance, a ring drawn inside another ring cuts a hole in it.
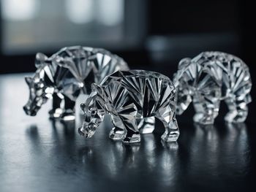
[[[249,69],[234,55],[221,52],[203,52],[195,58],[184,58],[174,75],[178,92],[176,112],[181,115],[192,101],[194,121],[213,124],[219,113],[219,103],[225,100],[229,112],[225,121],[241,123],[248,114],[247,104],[252,81]]]

